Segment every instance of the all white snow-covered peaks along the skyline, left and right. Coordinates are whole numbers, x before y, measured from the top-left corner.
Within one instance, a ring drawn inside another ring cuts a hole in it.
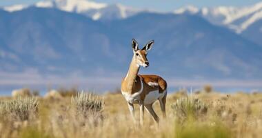
[[[38,8],[58,8],[66,12],[76,12],[94,20],[125,19],[139,12],[152,12],[146,9],[131,8],[119,3],[109,5],[89,0],[43,0],[32,6]],[[14,12],[28,8],[28,5],[6,6],[3,10]],[[154,11],[156,12],[156,11]],[[185,6],[173,11],[175,14],[198,14],[215,25],[227,26],[237,33],[243,32],[252,23],[262,19],[262,2],[253,6],[218,6],[214,8],[196,8]]]

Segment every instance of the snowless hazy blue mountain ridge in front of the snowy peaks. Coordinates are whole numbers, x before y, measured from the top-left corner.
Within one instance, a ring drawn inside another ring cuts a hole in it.
[[[262,75],[261,46],[196,15],[143,12],[108,23],[56,8],[30,7],[14,13],[0,10],[0,16],[0,71],[29,66],[41,75],[80,69],[85,75],[117,75],[126,71],[132,55],[130,39],[135,38],[141,45],[156,41],[148,58],[154,60],[152,70],[163,75],[209,79]]]

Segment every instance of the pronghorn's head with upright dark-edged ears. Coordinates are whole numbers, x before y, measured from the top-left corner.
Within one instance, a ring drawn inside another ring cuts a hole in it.
[[[139,50],[139,43],[135,39],[132,39],[132,48],[134,52],[134,60],[137,62],[137,65],[143,66],[144,68],[149,66],[148,59],[148,50],[152,48],[154,40],[148,42],[141,50]]]

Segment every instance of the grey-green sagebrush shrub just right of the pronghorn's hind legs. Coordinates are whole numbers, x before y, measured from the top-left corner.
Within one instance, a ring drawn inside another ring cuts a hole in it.
[[[178,99],[171,107],[174,110],[174,114],[180,118],[196,118],[208,111],[208,106],[206,106],[203,101],[189,97]]]

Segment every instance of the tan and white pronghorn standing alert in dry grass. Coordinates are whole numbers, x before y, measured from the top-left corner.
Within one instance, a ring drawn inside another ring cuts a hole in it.
[[[144,107],[157,123],[159,117],[152,108],[154,101],[159,100],[163,117],[165,118],[165,101],[167,96],[167,83],[164,79],[157,75],[138,75],[140,66],[147,68],[149,62],[147,59],[148,50],[152,48],[154,41],[150,41],[139,50],[139,44],[132,39],[133,58],[130,63],[130,68],[125,78],[121,83],[121,92],[128,101],[128,108],[134,121],[134,103],[140,106],[140,124],[143,124]]]

